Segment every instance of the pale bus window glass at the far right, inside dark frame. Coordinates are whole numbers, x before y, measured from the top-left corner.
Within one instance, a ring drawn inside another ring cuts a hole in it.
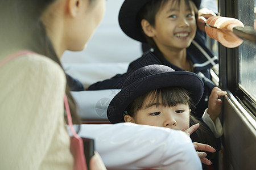
[[[241,20],[245,28],[255,29],[255,6],[256,0],[238,0],[235,16]],[[254,33],[255,34],[255,33]],[[255,41],[245,40],[237,49],[238,73],[237,94],[249,110],[255,113],[256,101],[256,44]]]

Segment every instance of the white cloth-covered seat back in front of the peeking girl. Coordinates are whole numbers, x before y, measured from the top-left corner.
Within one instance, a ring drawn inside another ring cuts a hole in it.
[[[81,125],[108,169],[202,169],[183,131],[132,123]]]

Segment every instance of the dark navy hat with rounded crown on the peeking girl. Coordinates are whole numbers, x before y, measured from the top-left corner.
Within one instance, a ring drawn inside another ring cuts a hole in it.
[[[174,71],[164,65],[148,65],[135,70],[123,84],[122,90],[114,96],[108,107],[108,118],[113,124],[122,120],[125,109],[137,97],[163,87],[183,87],[191,93],[196,105],[204,93],[203,80],[189,71]]]

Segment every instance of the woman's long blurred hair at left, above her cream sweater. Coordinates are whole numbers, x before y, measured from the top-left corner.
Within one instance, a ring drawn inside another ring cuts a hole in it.
[[[55,0],[0,0],[0,51],[13,52],[16,49],[28,49],[51,58],[61,66],[42,22],[43,11],[53,2]],[[69,91],[68,83],[65,93],[73,123],[79,124],[76,104]]]

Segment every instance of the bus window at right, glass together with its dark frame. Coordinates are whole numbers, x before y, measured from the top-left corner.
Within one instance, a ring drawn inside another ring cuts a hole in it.
[[[218,43],[218,50],[220,56],[220,86],[232,92],[246,111],[256,116],[256,88],[254,87],[256,82],[255,1],[218,1],[220,16],[237,18],[245,25],[245,29],[242,29],[242,39],[244,41],[240,46],[225,48]],[[247,32],[248,30],[249,32]]]

